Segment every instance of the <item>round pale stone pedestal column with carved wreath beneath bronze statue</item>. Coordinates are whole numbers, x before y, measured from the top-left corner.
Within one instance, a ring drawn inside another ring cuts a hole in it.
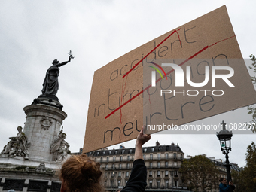
[[[24,108],[26,123],[23,132],[28,138],[29,160],[50,163],[50,145],[58,138],[62,121],[67,114],[49,105],[28,105]]]

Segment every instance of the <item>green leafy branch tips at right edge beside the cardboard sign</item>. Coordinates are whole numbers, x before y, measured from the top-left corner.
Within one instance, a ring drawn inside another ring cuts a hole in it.
[[[251,66],[248,67],[248,69],[253,70],[253,72],[256,72],[256,58],[254,55],[250,55],[251,58]],[[253,84],[256,84],[256,77],[251,76],[251,81]],[[252,114],[252,120],[248,123],[248,125],[253,125],[251,126],[251,131],[253,133],[256,132],[256,108],[252,107],[252,106],[248,106],[248,114]]]

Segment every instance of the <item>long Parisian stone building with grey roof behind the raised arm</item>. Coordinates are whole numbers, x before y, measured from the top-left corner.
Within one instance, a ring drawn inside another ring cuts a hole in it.
[[[145,147],[142,150],[148,169],[147,190],[183,191],[187,189],[178,172],[184,160],[184,153],[178,144],[160,145],[157,142],[156,146]],[[134,153],[135,148],[120,148],[92,151],[87,155],[101,163],[105,174],[106,190],[114,191],[126,185],[133,167]]]

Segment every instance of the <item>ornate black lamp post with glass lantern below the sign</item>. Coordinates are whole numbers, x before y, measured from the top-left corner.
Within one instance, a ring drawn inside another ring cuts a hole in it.
[[[231,172],[230,172],[230,161],[228,160],[228,153],[231,151],[231,137],[233,136],[232,131],[226,130],[226,123],[224,123],[224,120],[222,120],[222,130],[218,133],[217,132],[217,137],[218,140],[220,141],[221,145],[221,151],[226,157],[226,162],[225,165],[227,169],[227,184],[229,181],[231,181]],[[233,191],[231,188],[229,191]]]

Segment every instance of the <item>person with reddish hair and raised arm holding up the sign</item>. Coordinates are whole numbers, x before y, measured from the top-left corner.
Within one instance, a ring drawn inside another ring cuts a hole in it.
[[[143,126],[136,139],[133,169],[122,192],[144,192],[147,186],[147,168],[142,156],[142,145],[151,139],[144,133]],[[102,171],[100,164],[85,154],[69,157],[60,170],[61,192],[102,192]]]

